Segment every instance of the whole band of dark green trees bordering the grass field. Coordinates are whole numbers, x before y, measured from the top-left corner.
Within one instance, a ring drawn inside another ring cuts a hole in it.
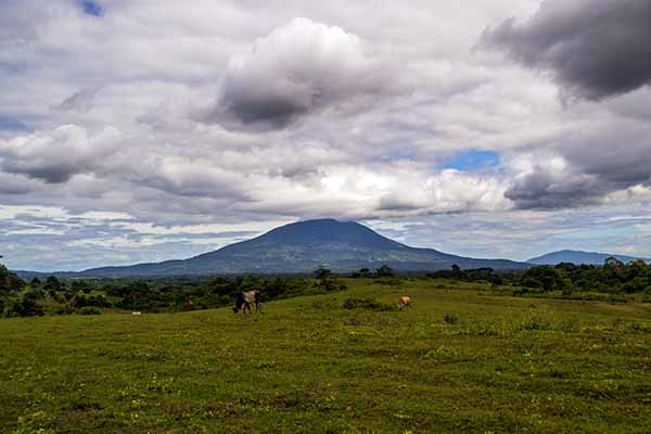
[[[97,315],[103,311],[180,311],[232,305],[238,292],[258,290],[263,301],[322,294],[346,288],[345,280],[375,279],[399,284],[401,279],[442,279],[482,283],[487,290],[518,296],[556,296],[623,302],[628,294],[651,294],[651,265],[641,260],[624,264],[609,258],[603,266],[559,264],[537,266],[520,272],[490,268],[463,270],[452,266],[418,276],[399,276],[387,266],[362,268],[334,277],[319,268],[307,277],[176,277],[59,279],[49,276],[29,282],[0,265],[0,316],[27,317],[44,314]],[[451,286],[454,288],[454,286]]]

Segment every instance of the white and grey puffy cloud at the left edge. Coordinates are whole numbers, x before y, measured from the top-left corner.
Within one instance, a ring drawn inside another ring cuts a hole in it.
[[[120,133],[107,127],[89,137],[84,127],[64,125],[0,142],[0,168],[49,183],[61,183],[74,175],[91,171],[100,159],[117,149]]]

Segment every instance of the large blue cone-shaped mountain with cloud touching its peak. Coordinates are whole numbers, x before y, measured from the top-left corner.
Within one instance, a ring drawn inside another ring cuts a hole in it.
[[[355,221],[317,219],[297,221],[254,239],[227,245],[189,259],[92,268],[76,276],[181,276],[218,273],[304,273],[319,266],[334,271],[378,268],[400,271],[490,267],[523,269],[524,263],[475,259],[433,248],[417,248],[382,237]]]

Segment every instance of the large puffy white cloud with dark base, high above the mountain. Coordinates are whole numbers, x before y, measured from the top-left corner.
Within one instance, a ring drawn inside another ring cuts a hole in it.
[[[294,118],[387,91],[385,65],[341,27],[294,18],[228,62],[217,111],[243,124]]]

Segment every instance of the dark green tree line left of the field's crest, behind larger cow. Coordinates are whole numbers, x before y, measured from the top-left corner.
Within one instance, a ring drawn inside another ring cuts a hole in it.
[[[0,266],[0,317],[101,314],[105,309],[146,312],[208,309],[233,304],[242,291],[260,291],[264,301],[316,295],[346,286],[330,275],[317,279],[282,277],[169,277],[157,279],[59,279],[29,283]]]

